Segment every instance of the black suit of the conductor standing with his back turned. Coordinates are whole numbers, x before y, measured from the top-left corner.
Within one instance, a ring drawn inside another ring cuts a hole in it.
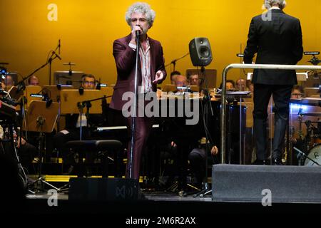
[[[284,8],[284,7],[281,7]],[[268,15],[270,14],[270,19]],[[264,20],[263,20],[264,19]],[[258,64],[295,65],[302,58],[302,31],[299,19],[289,16],[278,7],[267,14],[255,16],[250,23],[244,62],[252,63],[258,53]],[[297,84],[295,71],[254,70],[254,134],[257,161],[266,158],[267,105],[270,97],[275,103],[275,131],[272,144],[272,163],[282,165],[282,143],[289,117],[291,88]]]

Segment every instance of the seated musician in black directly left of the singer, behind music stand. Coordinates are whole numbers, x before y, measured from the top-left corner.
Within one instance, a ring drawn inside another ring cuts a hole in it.
[[[93,90],[96,88],[96,79],[92,75],[83,75],[82,85],[85,90]],[[67,174],[73,172],[73,167],[75,165],[74,154],[68,151],[65,147],[65,143],[71,140],[80,139],[80,126],[82,127],[82,139],[90,139],[90,128],[102,126],[106,123],[106,100],[102,100],[103,113],[102,114],[89,114],[88,118],[86,114],[79,116],[79,114],[68,114],[66,115],[66,129],[61,130],[56,135],[54,135],[54,147],[61,152],[63,157],[64,169]]]

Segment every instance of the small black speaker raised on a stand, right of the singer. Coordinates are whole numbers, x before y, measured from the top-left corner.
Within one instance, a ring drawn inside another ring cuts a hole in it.
[[[193,66],[208,66],[212,62],[212,51],[208,38],[196,37],[190,41],[190,59]]]

